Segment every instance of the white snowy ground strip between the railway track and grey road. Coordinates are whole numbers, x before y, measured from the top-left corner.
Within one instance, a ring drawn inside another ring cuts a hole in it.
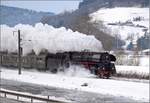
[[[84,74],[83,74],[84,75]],[[105,95],[123,96],[139,101],[149,101],[149,84],[110,79],[66,76],[23,70],[18,75],[17,70],[1,69],[1,78],[22,81],[52,87],[101,93]],[[88,86],[82,86],[87,83]]]

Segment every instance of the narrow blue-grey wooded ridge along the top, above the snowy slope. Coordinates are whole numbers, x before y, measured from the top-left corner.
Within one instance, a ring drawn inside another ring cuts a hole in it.
[[[94,5],[94,6],[93,6]],[[148,7],[149,0],[83,0],[79,4],[79,8],[113,8],[113,7]]]

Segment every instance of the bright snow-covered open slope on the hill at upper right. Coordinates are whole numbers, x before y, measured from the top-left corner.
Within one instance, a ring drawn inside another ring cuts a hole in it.
[[[136,42],[137,38],[144,35],[143,29],[149,28],[149,8],[104,8],[90,14],[90,17],[92,22],[103,21],[110,30],[109,34],[125,40],[126,45],[131,41],[129,38]]]

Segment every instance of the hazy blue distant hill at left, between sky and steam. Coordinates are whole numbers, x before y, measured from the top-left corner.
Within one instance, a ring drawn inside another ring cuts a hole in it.
[[[52,15],[54,15],[54,13],[36,12],[28,9],[0,5],[0,24],[7,24],[9,26],[15,26],[19,23],[33,25],[40,22],[42,17]]]

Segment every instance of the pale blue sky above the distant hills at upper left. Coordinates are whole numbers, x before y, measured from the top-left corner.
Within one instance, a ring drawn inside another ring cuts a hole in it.
[[[36,11],[54,12],[75,10],[82,0],[1,0],[2,5],[32,9]]]

